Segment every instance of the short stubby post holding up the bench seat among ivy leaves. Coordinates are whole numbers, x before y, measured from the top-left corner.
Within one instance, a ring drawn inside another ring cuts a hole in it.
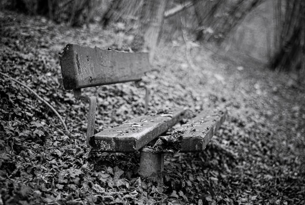
[[[144,177],[156,173],[157,181],[163,183],[160,175],[164,168],[164,154],[153,154],[152,151],[150,148],[140,149],[140,172]]]

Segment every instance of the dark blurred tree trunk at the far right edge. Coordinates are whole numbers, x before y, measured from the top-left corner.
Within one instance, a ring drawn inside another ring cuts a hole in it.
[[[271,60],[271,68],[296,71],[299,81],[305,77],[305,2],[278,0],[274,2],[275,39],[277,52]]]

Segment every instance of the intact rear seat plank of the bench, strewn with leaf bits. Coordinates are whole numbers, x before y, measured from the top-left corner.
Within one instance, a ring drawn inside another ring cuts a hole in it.
[[[143,115],[93,135],[89,145],[100,152],[136,152],[181,121],[184,113],[184,110],[175,110],[157,116]]]

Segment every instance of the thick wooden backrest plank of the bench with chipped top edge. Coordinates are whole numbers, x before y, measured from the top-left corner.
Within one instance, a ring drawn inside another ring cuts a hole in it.
[[[68,44],[59,55],[66,90],[140,80],[151,70],[148,53]]]

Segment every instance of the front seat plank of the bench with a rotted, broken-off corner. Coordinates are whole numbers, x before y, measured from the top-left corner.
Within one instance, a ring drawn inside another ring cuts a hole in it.
[[[154,153],[202,152],[224,122],[226,110],[207,109],[182,125],[182,134],[161,136],[153,146]],[[176,135],[176,136],[175,136]]]

